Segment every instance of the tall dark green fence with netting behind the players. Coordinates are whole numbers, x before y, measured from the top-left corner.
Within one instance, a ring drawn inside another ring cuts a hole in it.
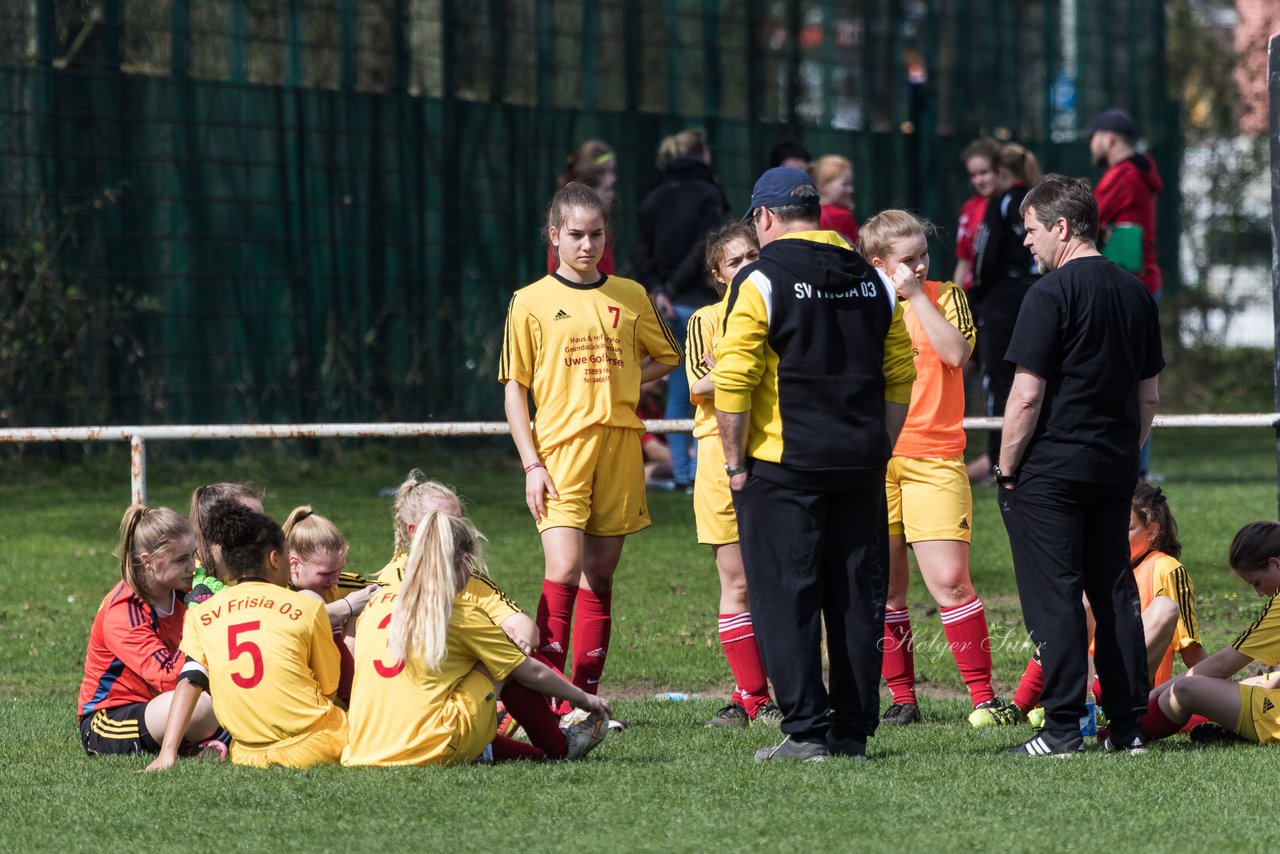
[[[704,127],[733,209],[799,138],[854,161],[859,218],[940,224],[945,275],[973,137],[1096,177],[1076,128],[1121,105],[1170,184],[1172,278],[1160,5],[6,3],[0,309],[31,320],[0,341],[0,424],[500,417],[507,298],[591,137],[623,271],[659,141]]]

